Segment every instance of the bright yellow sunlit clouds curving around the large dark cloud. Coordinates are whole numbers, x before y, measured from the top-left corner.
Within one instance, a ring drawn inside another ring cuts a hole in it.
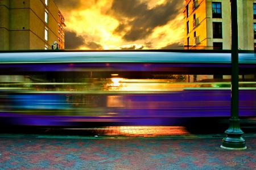
[[[154,7],[164,1],[165,0],[150,0],[148,1],[148,7]],[[84,37],[85,41],[94,41],[100,44],[104,49],[122,49],[129,48],[130,46],[135,46],[135,49],[140,49],[142,46],[145,46],[144,44],[146,42],[151,42],[153,49],[160,49],[175,42],[183,44],[183,14],[179,14],[175,20],[163,27],[155,28],[152,35],[148,36],[146,39],[127,42],[122,40],[121,36],[113,34],[114,29],[118,27],[118,20],[112,16],[104,15],[104,11],[108,11],[111,8],[112,1],[98,1],[96,5],[88,5],[88,1],[82,1],[82,4],[86,2],[87,6],[84,9],[61,11],[63,13],[65,12],[66,29],[76,31],[77,35]],[[81,46],[80,49],[89,48]],[[147,48],[144,47],[143,49]]]

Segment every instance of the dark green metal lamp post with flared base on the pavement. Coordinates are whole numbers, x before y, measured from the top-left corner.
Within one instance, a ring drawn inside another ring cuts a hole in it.
[[[238,24],[237,24],[237,0],[231,2],[232,18],[232,80],[231,80],[231,118],[229,119],[229,128],[225,131],[227,135],[221,148],[228,150],[245,150],[245,139],[242,138],[243,131],[240,129],[240,119],[238,118],[239,109],[239,91],[238,91]]]

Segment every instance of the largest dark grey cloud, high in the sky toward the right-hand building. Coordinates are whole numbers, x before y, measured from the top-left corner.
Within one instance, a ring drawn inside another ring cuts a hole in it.
[[[114,0],[109,14],[120,23],[114,33],[126,41],[136,41],[146,38],[154,28],[175,19],[181,9],[177,0],[166,1],[153,8],[148,8],[146,2],[139,0]]]

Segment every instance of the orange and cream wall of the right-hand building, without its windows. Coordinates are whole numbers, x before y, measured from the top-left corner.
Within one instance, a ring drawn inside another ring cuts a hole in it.
[[[189,17],[186,17],[186,7],[184,8],[184,45],[187,45],[189,37],[189,48],[185,49],[213,49],[213,42],[222,42],[222,49],[231,49],[231,8],[227,0],[197,0],[197,7],[192,8],[193,0],[185,0],[189,6]],[[221,18],[212,17],[212,2],[221,2]],[[238,46],[243,50],[254,49],[253,24],[253,3],[255,0],[241,0],[238,4]],[[193,15],[199,17],[199,25],[192,28]],[[190,31],[187,34],[187,22],[189,21]],[[213,39],[213,22],[222,23],[222,38]],[[196,45],[193,40],[196,31]]]

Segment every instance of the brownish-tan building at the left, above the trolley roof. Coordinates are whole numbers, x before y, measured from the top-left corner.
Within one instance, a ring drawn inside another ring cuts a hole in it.
[[[0,50],[51,49],[58,42],[53,0],[0,0],[0,16]]]

